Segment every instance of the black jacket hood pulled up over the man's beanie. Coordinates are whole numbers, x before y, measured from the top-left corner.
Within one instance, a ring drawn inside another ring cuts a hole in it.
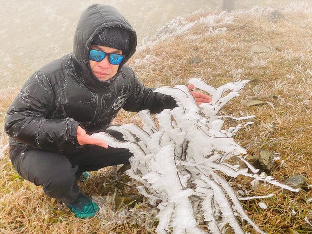
[[[78,68],[78,77],[88,86],[107,86],[118,76],[119,72],[108,81],[101,81],[93,75],[89,66],[89,50],[93,39],[103,28],[111,27],[119,27],[127,30],[129,33],[129,46],[126,53],[124,53],[125,58],[119,65],[118,71],[120,71],[137,48],[137,33],[128,20],[112,6],[94,4],[82,12],[78,21],[74,35],[73,57],[76,60],[75,69],[77,70],[77,65],[80,66]]]

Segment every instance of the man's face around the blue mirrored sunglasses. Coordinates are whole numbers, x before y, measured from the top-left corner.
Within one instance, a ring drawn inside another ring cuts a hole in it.
[[[90,50],[100,50],[109,54],[122,54],[121,50],[102,45],[91,45]],[[102,81],[107,81],[110,78],[114,77],[119,68],[119,65],[113,65],[109,63],[108,56],[105,56],[105,58],[99,62],[89,59],[89,64],[93,74]]]

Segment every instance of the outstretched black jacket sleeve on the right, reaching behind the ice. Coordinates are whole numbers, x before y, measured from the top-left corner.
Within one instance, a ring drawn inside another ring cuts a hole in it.
[[[131,94],[123,106],[124,110],[138,112],[148,109],[151,114],[155,114],[177,106],[172,96],[154,92],[155,89],[144,86],[134,72],[132,79]]]

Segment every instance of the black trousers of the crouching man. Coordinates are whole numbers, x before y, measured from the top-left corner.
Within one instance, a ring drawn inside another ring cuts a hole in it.
[[[109,132],[123,140],[122,134]],[[133,154],[128,149],[105,149],[88,145],[83,153],[68,155],[27,146],[26,149],[11,148],[10,158],[15,170],[24,179],[42,185],[46,195],[72,204],[78,198],[80,188],[76,175],[84,171],[97,171],[100,168],[129,164]]]

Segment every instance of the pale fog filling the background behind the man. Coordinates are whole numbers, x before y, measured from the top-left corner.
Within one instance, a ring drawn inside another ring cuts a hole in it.
[[[293,1],[293,0],[292,0]],[[236,9],[277,7],[291,0],[236,0]],[[90,0],[0,0],[0,88],[20,86],[44,64],[71,52],[75,27]],[[220,10],[221,0],[101,0],[137,30],[139,45],[177,16]]]

